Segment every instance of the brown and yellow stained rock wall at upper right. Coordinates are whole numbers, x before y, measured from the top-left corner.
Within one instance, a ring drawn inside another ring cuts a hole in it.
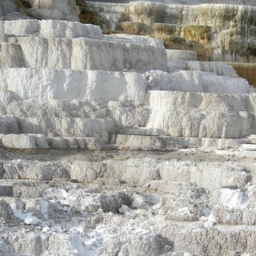
[[[162,38],[166,48],[195,50],[200,60],[255,62],[256,9],[253,6],[164,5],[153,2],[86,2],[106,33]]]

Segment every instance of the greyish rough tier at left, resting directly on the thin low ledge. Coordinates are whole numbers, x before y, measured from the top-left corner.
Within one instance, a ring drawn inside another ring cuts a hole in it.
[[[48,137],[89,137],[106,143],[114,133],[112,118],[43,118],[11,117],[0,118],[1,134],[45,134]],[[40,125],[39,125],[40,124]]]

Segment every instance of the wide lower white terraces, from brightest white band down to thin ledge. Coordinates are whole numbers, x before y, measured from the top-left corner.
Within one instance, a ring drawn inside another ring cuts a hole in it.
[[[255,95],[242,78],[200,71],[0,71],[7,90],[0,94],[2,134],[86,136],[102,143],[120,128],[199,138],[255,134]]]

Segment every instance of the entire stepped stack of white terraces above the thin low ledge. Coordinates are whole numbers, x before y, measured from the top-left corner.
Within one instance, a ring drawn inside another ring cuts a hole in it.
[[[2,134],[11,126],[14,134],[89,136],[104,144],[119,129],[195,138],[255,133],[253,90],[230,66],[76,22],[0,24]]]

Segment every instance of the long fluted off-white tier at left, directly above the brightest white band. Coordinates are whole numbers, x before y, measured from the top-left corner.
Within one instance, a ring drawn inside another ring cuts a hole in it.
[[[167,70],[163,47],[91,38],[10,38],[1,43],[2,67],[71,70]]]

